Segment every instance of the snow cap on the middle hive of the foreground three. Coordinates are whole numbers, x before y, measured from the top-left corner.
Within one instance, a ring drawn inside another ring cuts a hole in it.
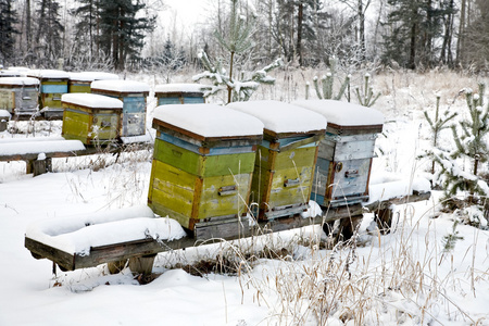
[[[309,133],[326,128],[321,114],[279,101],[234,102],[227,105],[260,118],[265,128],[275,133]]]

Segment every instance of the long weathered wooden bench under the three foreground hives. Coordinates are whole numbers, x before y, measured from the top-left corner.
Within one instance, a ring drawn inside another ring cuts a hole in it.
[[[244,238],[255,235],[263,235],[264,233],[275,233],[289,230],[310,225],[323,225],[323,228],[327,230],[327,227],[340,220],[340,231],[343,234],[343,238],[349,238],[354,233],[358,224],[363,217],[363,213],[366,211],[377,212],[383,221],[380,224],[385,226],[385,220],[387,216],[391,218],[390,206],[392,204],[405,204],[409,202],[427,200],[430,197],[429,191],[413,191],[410,196],[389,198],[380,201],[373,201],[362,204],[354,204],[351,206],[330,208],[323,212],[323,215],[313,217],[302,217],[296,214],[290,217],[280,217],[268,222],[259,222],[252,227],[243,227],[241,223],[236,222],[234,225],[236,228],[242,230],[239,237],[214,237],[206,239],[205,243],[222,240],[233,240],[237,238]],[[127,215],[127,214],[126,214]],[[218,225],[216,225],[216,231]],[[116,230],[114,230],[116,233]],[[112,234],[112,233],[111,233]],[[177,240],[164,240],[154,239],[151,237],[141,236],[138,239],[130,241],[121,241],[115,243],[106,243],[103,246],[92,246],[89,249],[89,253],[68,253],[59,248],[54,248],[50,244],[39,241],[29,237],[26,234],[25,247],[30,251],[36,259],[49,259],[53,262],[53,271],[55,265],[60,266],[62,271],[75,271],[78,268],[95,267],[97,265],[108,263],[109,271],[111,273],[118,272],[127,261],[129,261],[129,268],[135,274],[150,274],[155,255],[159,252],[184,249],[188,247],[195,247],[201,243],[202,239],[196,239],[190,236],[185,236]]]

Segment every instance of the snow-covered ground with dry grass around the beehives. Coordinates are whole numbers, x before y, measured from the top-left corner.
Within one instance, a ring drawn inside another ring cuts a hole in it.
[[[301,85],[313,72],[280,74],[256,100],[304,98]],[[151,89],[159,83],[156,76],[134,78]],[[426,176],[430,162],[415,160],[431,141],[423,110],[434,109],[436,92],[442,108],[463,114],[466,104],[456,95],[476,89],[476,82],[453,73],[375,77],[383,97],[374,108],[386,124],[372,183],[409,185]],[[153,135],[150,126],[148,118]],[[60,122],[15,128],[21,134],[0,133],[0,140],[34,137],[33,128],[36,138],[61,135]],[[450,130],[443,133],[441,141],[450,146]],[[146,205],[150,171],[148,152],[126,153],[116,163],[109,154],[53,159],[53,173],[37,177],[25,175],[23,162],[0,162],[0,325],[489,325],[489,231],[459,224],[463,239],[443,251],[454,216],[439,212],[440,191],[397,206],[394,231],[386,236],[365,214],[353,246],[325,249],[321,228],[311,226],[160,253],[153,267],[160,276],[147,285],[128,268],[110,275],[105,265],[53,275],[50,261],[35,260],[24,248],[33,223]],[[277,254],[262,258],[263,247]],[[223,256],[239,261],[239,273],[199,276],[181,267]]]

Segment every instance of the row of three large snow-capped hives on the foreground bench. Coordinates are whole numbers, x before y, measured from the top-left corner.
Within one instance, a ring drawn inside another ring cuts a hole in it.
[[[326,100],[158,106],[148,203],[195,235],[236,231],[225,226],[248,213],[292,216],[310,198],[359,203],[383,124],[376,110]]]

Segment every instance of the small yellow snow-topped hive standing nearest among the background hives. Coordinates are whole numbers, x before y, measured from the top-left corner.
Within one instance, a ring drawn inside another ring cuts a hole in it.
[[[104,145],[118,137],[121,100],[92,93],[66,93],[62,102],[64,138],[78,139],[85,145]]]

